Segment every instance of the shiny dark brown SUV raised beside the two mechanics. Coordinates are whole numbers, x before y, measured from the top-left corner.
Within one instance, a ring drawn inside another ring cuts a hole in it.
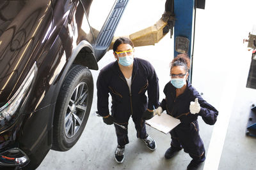
[[[76,144],[92,106],[90,69],[127,1],[113,0],[100,31],[92,0],[0,1],[0,169],[35,169],[50,149]]]

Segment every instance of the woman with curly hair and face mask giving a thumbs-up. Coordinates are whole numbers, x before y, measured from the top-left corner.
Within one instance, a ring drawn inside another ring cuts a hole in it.
[[[164,87],[165,99],[156,109],[157,115],[166,110],[168,115],[179,118],[180,124],[171,132],[171,147],[164,157],[170,159],[184,148],[192,158],[187,169],[197,169],[205,160],[204,143],[199,135],[197,117],[201,116],[206,124],[216,122],[218,111],[208,104],[188,82],[190,60],[187,55],[179,54],[172,60],[169,81]],[[195,101],[195,102],[194,102]]]

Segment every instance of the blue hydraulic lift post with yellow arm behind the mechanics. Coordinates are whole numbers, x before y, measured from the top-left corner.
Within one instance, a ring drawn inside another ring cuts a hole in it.
[[[189,81],[191,82],[196,8],[204,9],[205,0],[166,0],[164,14],[154,25],[124,37],[130,38],[134,46],[155,45],[169,31],[170,37],[172,38],[174,29],[173,56],[175,57],[179,53],[188,54],[191,59],[189,73]],[[113,43],[117,38],[113,38],[109,50],[112,49]]]

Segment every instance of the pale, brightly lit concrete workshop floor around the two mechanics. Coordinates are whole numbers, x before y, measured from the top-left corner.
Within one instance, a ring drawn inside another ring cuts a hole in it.
[[[116,35],[125,35],[154,24],[163,13],[164,0],[130,1]],[[143,6],[143,10],[141,10]],[[200,136],[207,159],[200,169],[255,169],[256,138],[245,136],[250,105],[256,103],[256,90],[246,89],[251,52],[243,45],[252,29],[256,2],[246,0],[207,1],[205,10],[196,14],[196,39],[193,65],[193,86],[206,101],[220,111],[214,126],[199,118]],[[137,16],[140,17],[137,17]],[[147,17],[147,18],[144,18]],[[173,39],[166,35],[155,46],[136,48],[136,57],[149,60],[159,76],[160,101],[164,85],[169,81],[168,64],[173,59]],[[99,61],[99,68],[113,61],[109,51]],[[94,83],[99,71],[92,71]],[[125,160],[117,164],[115,128],[97,117],[97,89],[88,123],[77,144],[67,152],[50,151],[38,170],[44,169],[186,169],[191,158],[183,150],[173,159],[164,159],[170,146],[170,135],[147,126],[156,140],[157,150],[151,152],[140,139],[132,121],[129,122],[130,143]]]

